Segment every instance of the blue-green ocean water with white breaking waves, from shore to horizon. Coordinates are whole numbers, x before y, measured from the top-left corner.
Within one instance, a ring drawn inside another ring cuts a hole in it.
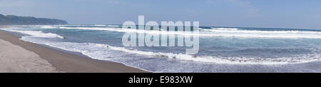
[[[123,34],[136,31],[121,29],[121,25],[15,26],[2,30],[22,36],[24,41],[152,72],[321,71],[321,30],[200,26],[200,48],[195,55],[186,55],[186,47],[124,47]]]

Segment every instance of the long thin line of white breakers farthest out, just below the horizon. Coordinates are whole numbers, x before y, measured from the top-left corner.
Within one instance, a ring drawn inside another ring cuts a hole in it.
[[[137,29],[121,28],[101,28],[101,27],[60,27],[60,29],[86,29],[104,30],[117,32],[137,32],[146,34],[164,34],[161,31],[142,31]],[[225,37],[244,37],[244,38],[285,38],[285,39],[321,39],[319,31],[250,31],[250,30],[220,30],[220,29],[201,29],[199,36],[225,36]],[[168,31],[168,34],[187,35],[183,31]],[[196,34],[189,34],[196,35]]]

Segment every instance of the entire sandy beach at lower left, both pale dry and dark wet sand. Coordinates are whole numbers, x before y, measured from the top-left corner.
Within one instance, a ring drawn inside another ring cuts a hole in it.
[[[122,63],[76,56],[19,39],[0,31],[1,73],[148,73]]]

